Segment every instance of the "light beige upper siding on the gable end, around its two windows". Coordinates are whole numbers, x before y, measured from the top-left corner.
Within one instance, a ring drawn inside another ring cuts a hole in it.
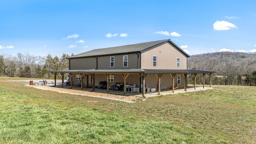
[[[157,56],[157,66],[153,66],[153,56]],[[177,68],[177,58],[180,67]],[[187,57],[169,43],[151,48],[142,53],[142,69],[187,69]]]

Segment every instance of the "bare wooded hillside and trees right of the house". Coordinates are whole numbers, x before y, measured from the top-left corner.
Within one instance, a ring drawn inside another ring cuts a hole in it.
[[[244,52],[213,52],[192,55],[188,58],[188,69],[212,70],[212,84],[256,86],[256,54]],[[202,75],[197,74],[197,84],[202,84]],[[194,84],[188,76],[188,83]],[[205,83],[209,84],[208,76]]]

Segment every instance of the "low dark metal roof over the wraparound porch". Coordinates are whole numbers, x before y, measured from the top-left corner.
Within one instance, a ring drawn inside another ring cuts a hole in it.
[[[106,73],[112,73],[112,74],[127,74],[127,73],[134,73],[134,74],[180,74],[180,73],[215,73],[215,71],[208,71],[208,70],[158,70],[158,69],[113,69],[113,70],[96,70],[96,69],[90,69],[90,70],[57,70],[52,72],[59,72],[59,73],[97,73],[97,74],[106,74]]]

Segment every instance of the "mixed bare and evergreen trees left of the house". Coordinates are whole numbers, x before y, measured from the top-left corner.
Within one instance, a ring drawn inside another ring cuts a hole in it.
[[[62,54],[52,57],[50,54],[45,56],[35,56],[27,53],[12,55],[0,55],[0,76],[20,77],[20,78],[49,78],[53,79],[51,71],[63,70],[68,68],[69,56],[74,54]],[[61,78],[57,75],[58,79]]]

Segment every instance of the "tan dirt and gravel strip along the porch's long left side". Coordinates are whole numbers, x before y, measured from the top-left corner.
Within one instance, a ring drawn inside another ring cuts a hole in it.
[[[26,85],[28,86],[28,85]],[[58,87],[52,87],[52,86],[37,86],[32,85],[31,87],[38,88],[41,90],[51,90],[55,92],[65,93],[65,94],[75,94],[75,95],[81,95],[81,96],[91,96],[96,98],[105,98],[110,100],[118,100],[122,102],[136,102],[141,100],[146,100],[145,98],[139,98],[135,96],[120,96],[115,94],[106,94],[106,93],[99,93],[99,92],[88,92],[84,90],[71,90],[71,89],[65,89],[65,88],[58,88]]]

